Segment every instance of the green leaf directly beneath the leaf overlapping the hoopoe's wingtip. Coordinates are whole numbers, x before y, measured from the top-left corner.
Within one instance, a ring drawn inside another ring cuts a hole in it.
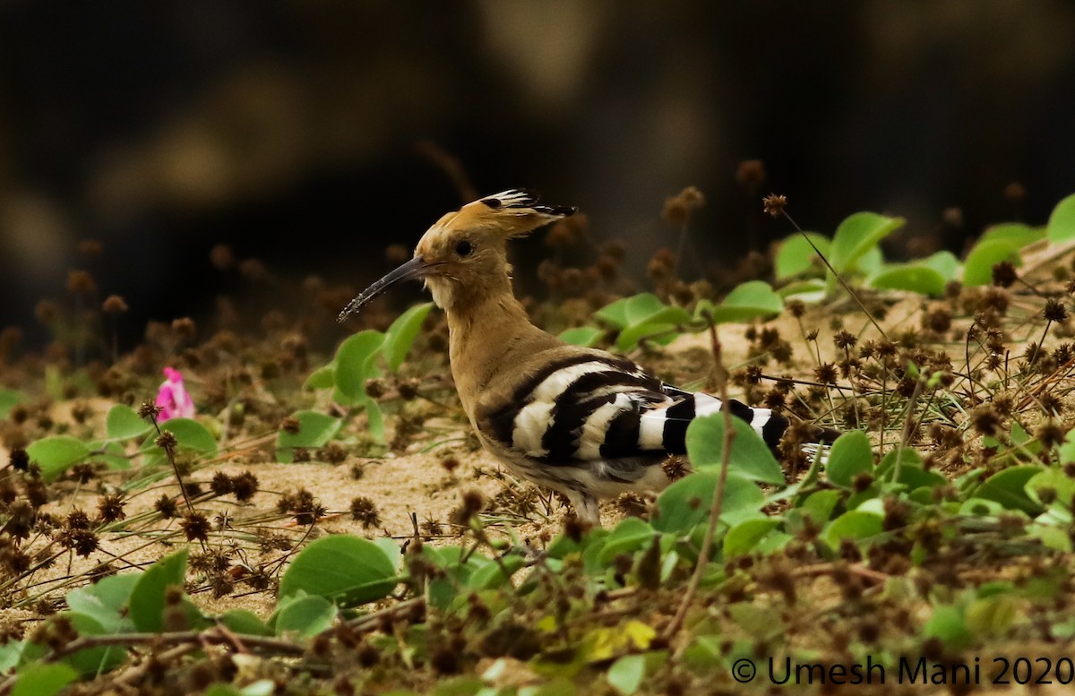
[[[713,493],[717,490],[717,472],[698,472],[674,481],[657,498],[657,516],[650,520],[658,532],[685,534],[710,517]],[[765,504],[761,489],[740,477],[729,476],[725,482],[720,521],[736,524],[756,518]]]

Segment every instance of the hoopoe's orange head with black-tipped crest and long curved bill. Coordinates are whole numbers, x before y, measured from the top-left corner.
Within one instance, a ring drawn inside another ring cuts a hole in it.
[[[507,240],[574,213],[573,207],[541,205],[534,193],[516,189],[468,203],[429,228],[418,241],[414,258],[352,300],[340,313],[340,320],[398,280],[425,280],[433,302],[445,309],[504,287],[510,292],[511,286],[505,285],[511,273],[504,248]]]

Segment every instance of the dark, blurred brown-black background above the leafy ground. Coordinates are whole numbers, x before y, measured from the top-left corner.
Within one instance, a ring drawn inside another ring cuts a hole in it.
[[[360,289],[468,186],[579,206],[643,285],[687,185],[700,267],[791,231],[770,191],[960,251],[1075,191],[1073,37],[1069,0],[8,0],[0,327],[38,335],[72,269],[132,319],[197,315],[233,282],[216,244]]]

